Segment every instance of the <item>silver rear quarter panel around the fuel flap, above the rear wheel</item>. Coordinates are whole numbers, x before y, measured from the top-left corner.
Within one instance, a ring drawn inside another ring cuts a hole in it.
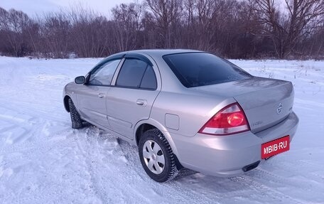
[[[200,128],[220,109],[236,102],[234,98],[201,94],[193,90],[163,92],[158,95],[151,110],[151,118],[163,124],[171,133],[195,136]],[[166,114],[178,116],[178,129],[168,128]]]

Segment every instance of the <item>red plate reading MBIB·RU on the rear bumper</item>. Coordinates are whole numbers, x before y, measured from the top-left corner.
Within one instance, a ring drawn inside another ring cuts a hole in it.
[[[261,159],[289,150],[289,135],[261,144]]]

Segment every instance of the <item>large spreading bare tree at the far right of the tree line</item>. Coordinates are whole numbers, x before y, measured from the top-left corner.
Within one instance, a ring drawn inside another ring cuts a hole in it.
[[[323,0],[285,0],[288,14],[279,9],[279,1],[276,0],[255,0],[254,4],[260,14],[260,23],[266,24],[265,34],[273,40],[279,58],[296,53],[296,44],[312,28],[307,27],[309,23],[324,14]]]

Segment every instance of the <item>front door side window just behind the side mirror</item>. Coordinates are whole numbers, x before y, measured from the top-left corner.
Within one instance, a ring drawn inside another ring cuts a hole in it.
[[[112,77],[116,71],[119,60],[112,60],[101,65],[94,73],[91,73],[88,84],[89,85],[110,85]]]

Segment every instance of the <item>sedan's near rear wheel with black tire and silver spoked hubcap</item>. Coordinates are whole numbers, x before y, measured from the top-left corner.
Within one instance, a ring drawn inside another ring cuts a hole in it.
[[[145,131],[139,140],[139,159],[154,181],[165,182],[175,177],[177,168],[170,144],[158,129]]]

